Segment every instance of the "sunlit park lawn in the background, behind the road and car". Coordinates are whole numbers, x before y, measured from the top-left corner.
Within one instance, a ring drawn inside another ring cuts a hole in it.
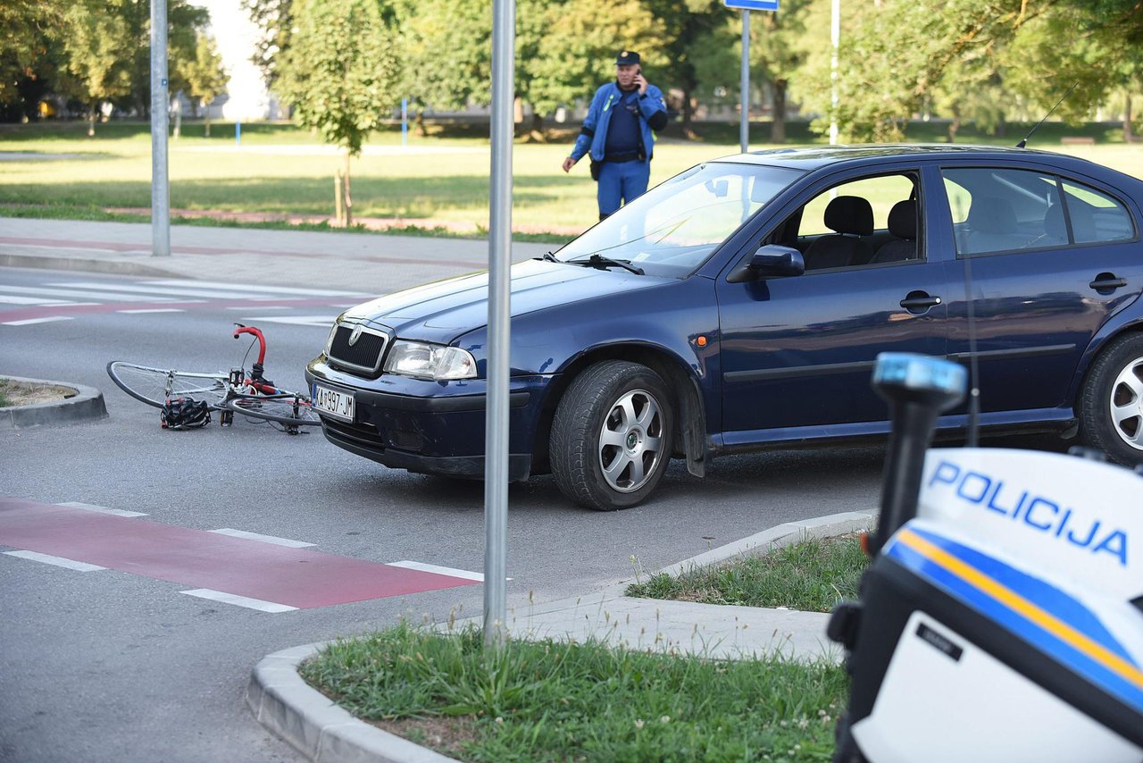
[[[993,136],[962,128],[958,140],[1012,145],[1029,126],[1013,125]],[[0,161],[0,204],[42,209],[45,216],[71,212],[91,218],[109,207],[151,206],[151,141],[144,122],[98,125],[89,138],[85,122],[0,126],[0,152],[41,158]],[[205,137],[201,122],[184,121],[183,136],[169,143],[173,209],[254,212],[330,216],[334,173],[342,159],[311,132],[283,124],[242,125],[241,146],[234,125],[216,122]],[[917,122],[909,140],[943,141],[944,125]],[[664,130],[652,164],[652,184],[701,161],[738,151],[737,122],[696,126],[684,138],[677,125]],[[791,122],[789,142],[821,143],[805,122]],[[598,218],[596,184],[585,162],[570,174],[560,169],[575,129],[561,127],[547,143],[518,141],[513,148],[513,229],[562,240]],[[752,149],[769,148],[768,125],[752,127]],[[1062,136],[1087,135],[1094,145],[1060,145]],[[1072,128],[1046,124],[1033,148],[1060,150],[1143,177],[1143,151],[1116,143],[1121,130],[1097,124]],[[400,129],[375,133],[352,166],[353,214],[391,218],[397,228],[464,228],[482,236],[488,226],[490,152],[487,125],[432,125],[427,136],[410,130],[407,148]],[[27,212],[32,214],[32,212]],[[246,225],[247,223],[242,223]]]

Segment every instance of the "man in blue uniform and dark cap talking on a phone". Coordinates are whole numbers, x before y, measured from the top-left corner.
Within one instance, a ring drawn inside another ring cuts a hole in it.
[[[663,93],[644,78],[639,54],[623,50],[615,58],[615,81],[596,90],[575,146],[563,160],[563,172],[569,172],[585,153],[591,156],[600,220],[647,190],[655,148],[652,130],[665,126]]]

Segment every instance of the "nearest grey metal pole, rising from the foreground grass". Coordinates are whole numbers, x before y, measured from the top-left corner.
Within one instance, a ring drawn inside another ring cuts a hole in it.
[[[507,389],[512,263],[515,0],[493,2],[491,189],[488,224],[488,407],[485,434],[485,646],[507,620]]]

